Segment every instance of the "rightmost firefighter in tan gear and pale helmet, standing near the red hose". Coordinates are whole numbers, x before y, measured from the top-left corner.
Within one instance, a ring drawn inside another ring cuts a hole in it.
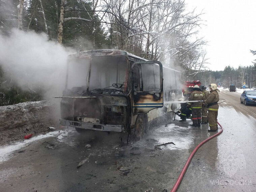
[[[205,103],[208,108],[208,121],[209,121],[209,127],[210,129],[208,130],[209,132],[215,132],[218,129],[218,101],[219,101],[219,94],[218,94],[218,88],[217,85],[212,83],[209,85],[210,88],[210,95],[206,100],[203,100],[203,103]]]

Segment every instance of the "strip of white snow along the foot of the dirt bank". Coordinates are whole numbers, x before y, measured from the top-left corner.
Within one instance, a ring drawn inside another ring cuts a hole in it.
[[[26,147],[34,141],[38,141],[38,140],[46,138],[46,137],[55,137],[57,135],[59,135],[59,137],[60,137],[61,134],[65,134],[65,131],[60,131],[60,132],[53,131],[53,132],[50,132],[50,133],[47,133],[44,135],[38,135],[38,136],[32,137],[30,139],[26,139],[24,141],[15,142],[15,143],[13,143],[13,145],[0,146],[0,163],[2,161],[8,160],[14,151],[17,151],[23,147]]]

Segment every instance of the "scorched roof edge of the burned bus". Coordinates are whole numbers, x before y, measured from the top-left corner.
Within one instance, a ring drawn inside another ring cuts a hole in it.
[[[128,56],[134,58],[136,61],[142,60],[142,61],[149,61],[147,59],[138,57],[136,55],[133,55],[129,52],[122,51],[122,50],[115,50],[115,49],[99,49],[99,50],[90,50],[90,51],[78,51],[77,53],[70,54],[68,56],[69,59],[72,58],[85,58],[85,57],[95,57],[95,56],[112,56],[112,55],[122,55],[122,56]],[[175,69],[171,69],[169,67],[163,66],[165,69],[169,69],[175,72],[180,72]]]

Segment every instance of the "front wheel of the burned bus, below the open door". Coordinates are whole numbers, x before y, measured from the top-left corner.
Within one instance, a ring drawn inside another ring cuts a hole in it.
[[[132,140],[135,140],[135,141],[140,140],[147,129],[147,125],[148,125],[148,116],[146,114],[138,115],[134,125]]]

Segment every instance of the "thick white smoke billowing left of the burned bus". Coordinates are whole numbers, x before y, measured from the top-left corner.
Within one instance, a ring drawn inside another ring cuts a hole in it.
[[[5,75],[24,90],[44,90],[44,99],[61,95],[70,53],[42,33],[13,29],[8,37],[0,35],[0,65]]]

